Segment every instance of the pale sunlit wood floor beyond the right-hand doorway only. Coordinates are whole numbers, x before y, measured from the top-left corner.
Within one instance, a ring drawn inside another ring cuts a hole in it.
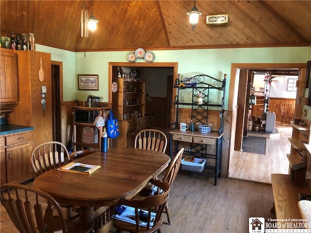
[[[276,124],[280,136],[266,139],[266,154],[235,151],[230,156],[229,178],[271,183],[271,174],[288,174],[289,162],[286,154],[290,153],[288,141],[292,137],[293,127]]]

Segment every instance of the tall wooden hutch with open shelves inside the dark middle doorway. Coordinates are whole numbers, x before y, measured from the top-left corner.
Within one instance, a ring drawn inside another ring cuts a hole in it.
[[[145,116],[146,67],[122,67],[120,76],[128,77],[118,77],[119,69],[112,67],[112,82],[118,86],[117,92],[112,93],[112,108],[120,130],[112,147],[134,147],[136,134],[150,126],[149,116]]]

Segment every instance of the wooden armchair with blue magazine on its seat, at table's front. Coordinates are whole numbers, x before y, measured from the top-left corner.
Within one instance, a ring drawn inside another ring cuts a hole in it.
[[[162,213],[165,209],[165,204],[169,198],[170,185],[156,179],[151,179],[150,183],[158,187],[154,195],[145,197],[144,199],[122,199],[121,204],[135,208],[133,218],[136,224],[128,223],[119,219],[113,219],[113,226],[117,229],[117,233],[121,231],[130,233],[153,233],[161,232],[161,225],[163,222]],[[139,219],[138,211],[143,210],[147,213],[146,220]],[[151,217],[152,213],[154,216]],[[140,226],[139,222],[144,221],[146,226]],[[153,225],[152,225],[153,224]]]

